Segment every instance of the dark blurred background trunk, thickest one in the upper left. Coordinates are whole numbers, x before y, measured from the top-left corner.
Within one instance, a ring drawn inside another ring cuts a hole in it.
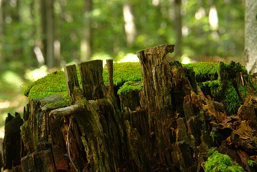
[[[41,0],[41,26],[43,57],[48,68],[53,68],[57,63],[54,58],[54,13],[53,0]]]

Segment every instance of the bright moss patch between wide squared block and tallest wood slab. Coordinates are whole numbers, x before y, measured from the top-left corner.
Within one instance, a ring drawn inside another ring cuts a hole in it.
[[[103,80],[108,82],[107,68],[103,68]],[[113,83],[122,86],[127,81],[141,81],[139,62],[123,62],[113,64]]]

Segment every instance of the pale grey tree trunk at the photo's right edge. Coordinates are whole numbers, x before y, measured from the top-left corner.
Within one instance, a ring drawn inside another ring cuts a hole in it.
[[[257,3],[245,0],[245,66],[249,73],[257,72]]]

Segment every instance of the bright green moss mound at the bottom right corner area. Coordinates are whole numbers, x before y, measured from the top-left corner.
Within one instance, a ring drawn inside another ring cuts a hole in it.
[[[227,155],[214,151],[208,160],[202,163],[205,172],[244,172],[244,169],[236,162],[233,162]]]

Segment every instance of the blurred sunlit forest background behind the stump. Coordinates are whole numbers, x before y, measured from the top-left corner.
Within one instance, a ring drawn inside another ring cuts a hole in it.
[[[175,44],[169,60],[242,63],[244,0],[0,0],[0,124],[47,72],[162,44]]]

